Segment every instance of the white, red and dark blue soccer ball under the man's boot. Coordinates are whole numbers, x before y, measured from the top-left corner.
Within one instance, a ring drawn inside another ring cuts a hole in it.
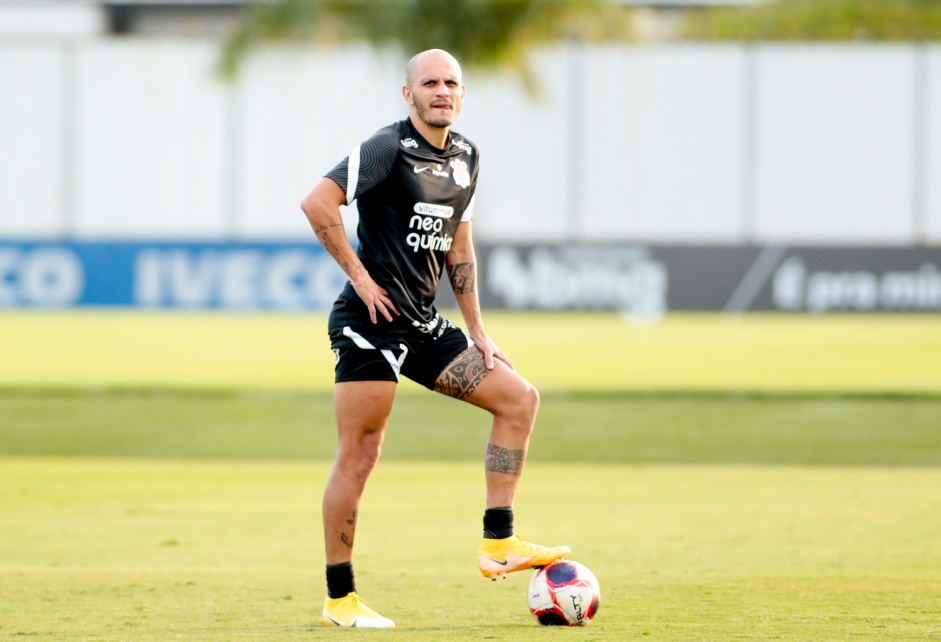
[[[528,602],[543,626],[584,626],[598,613],[601,587],[584,564],[559,560],[533,575]]]

